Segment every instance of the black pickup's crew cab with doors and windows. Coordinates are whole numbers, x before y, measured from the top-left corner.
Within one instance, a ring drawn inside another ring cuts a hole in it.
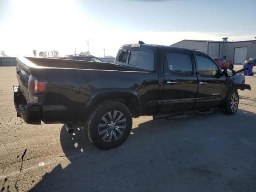
[[[214,108],[226,98],[230,78],[210,56],[196,50],[151,44],[124,45],[115,63],[158,73],[156,104],[160,114]]]

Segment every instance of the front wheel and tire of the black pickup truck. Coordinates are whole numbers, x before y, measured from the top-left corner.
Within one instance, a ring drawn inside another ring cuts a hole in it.
[[[236,103],[237,106],[234,103]],[[239,105],[239,95],[237,90],[234,90],[230,92],[230,94],[228,94],[226,101],[224,103],[224,106],[222,108],[222,111],[227,115],[234,115],[238,110],[238,105]],[[234,106],[236,106],[236,108],[234,108]]]

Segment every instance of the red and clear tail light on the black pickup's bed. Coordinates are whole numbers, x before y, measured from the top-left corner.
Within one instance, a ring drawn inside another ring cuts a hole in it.
[[[47,86],[47,81],[32,75],[28,78],[28,95],[30,102],[38,103],[38,98],[42,98]]]

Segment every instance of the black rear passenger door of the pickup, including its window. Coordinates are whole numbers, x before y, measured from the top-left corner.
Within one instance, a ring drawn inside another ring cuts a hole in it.
[[[164,51],[164,94],[162,112],[192,109],[196,102],[198,79],[192,52]]]

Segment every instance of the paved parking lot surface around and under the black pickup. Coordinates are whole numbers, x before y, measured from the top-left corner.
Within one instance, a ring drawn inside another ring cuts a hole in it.
[[[17,118],[15,70],[0,67],[2,191],[256,191],[256,76],[246,76],[252,90],[238,91],[234,116],[143,116],[122,146],[103,151],[88,142],[83,127],[68,134],[63,124]]]

